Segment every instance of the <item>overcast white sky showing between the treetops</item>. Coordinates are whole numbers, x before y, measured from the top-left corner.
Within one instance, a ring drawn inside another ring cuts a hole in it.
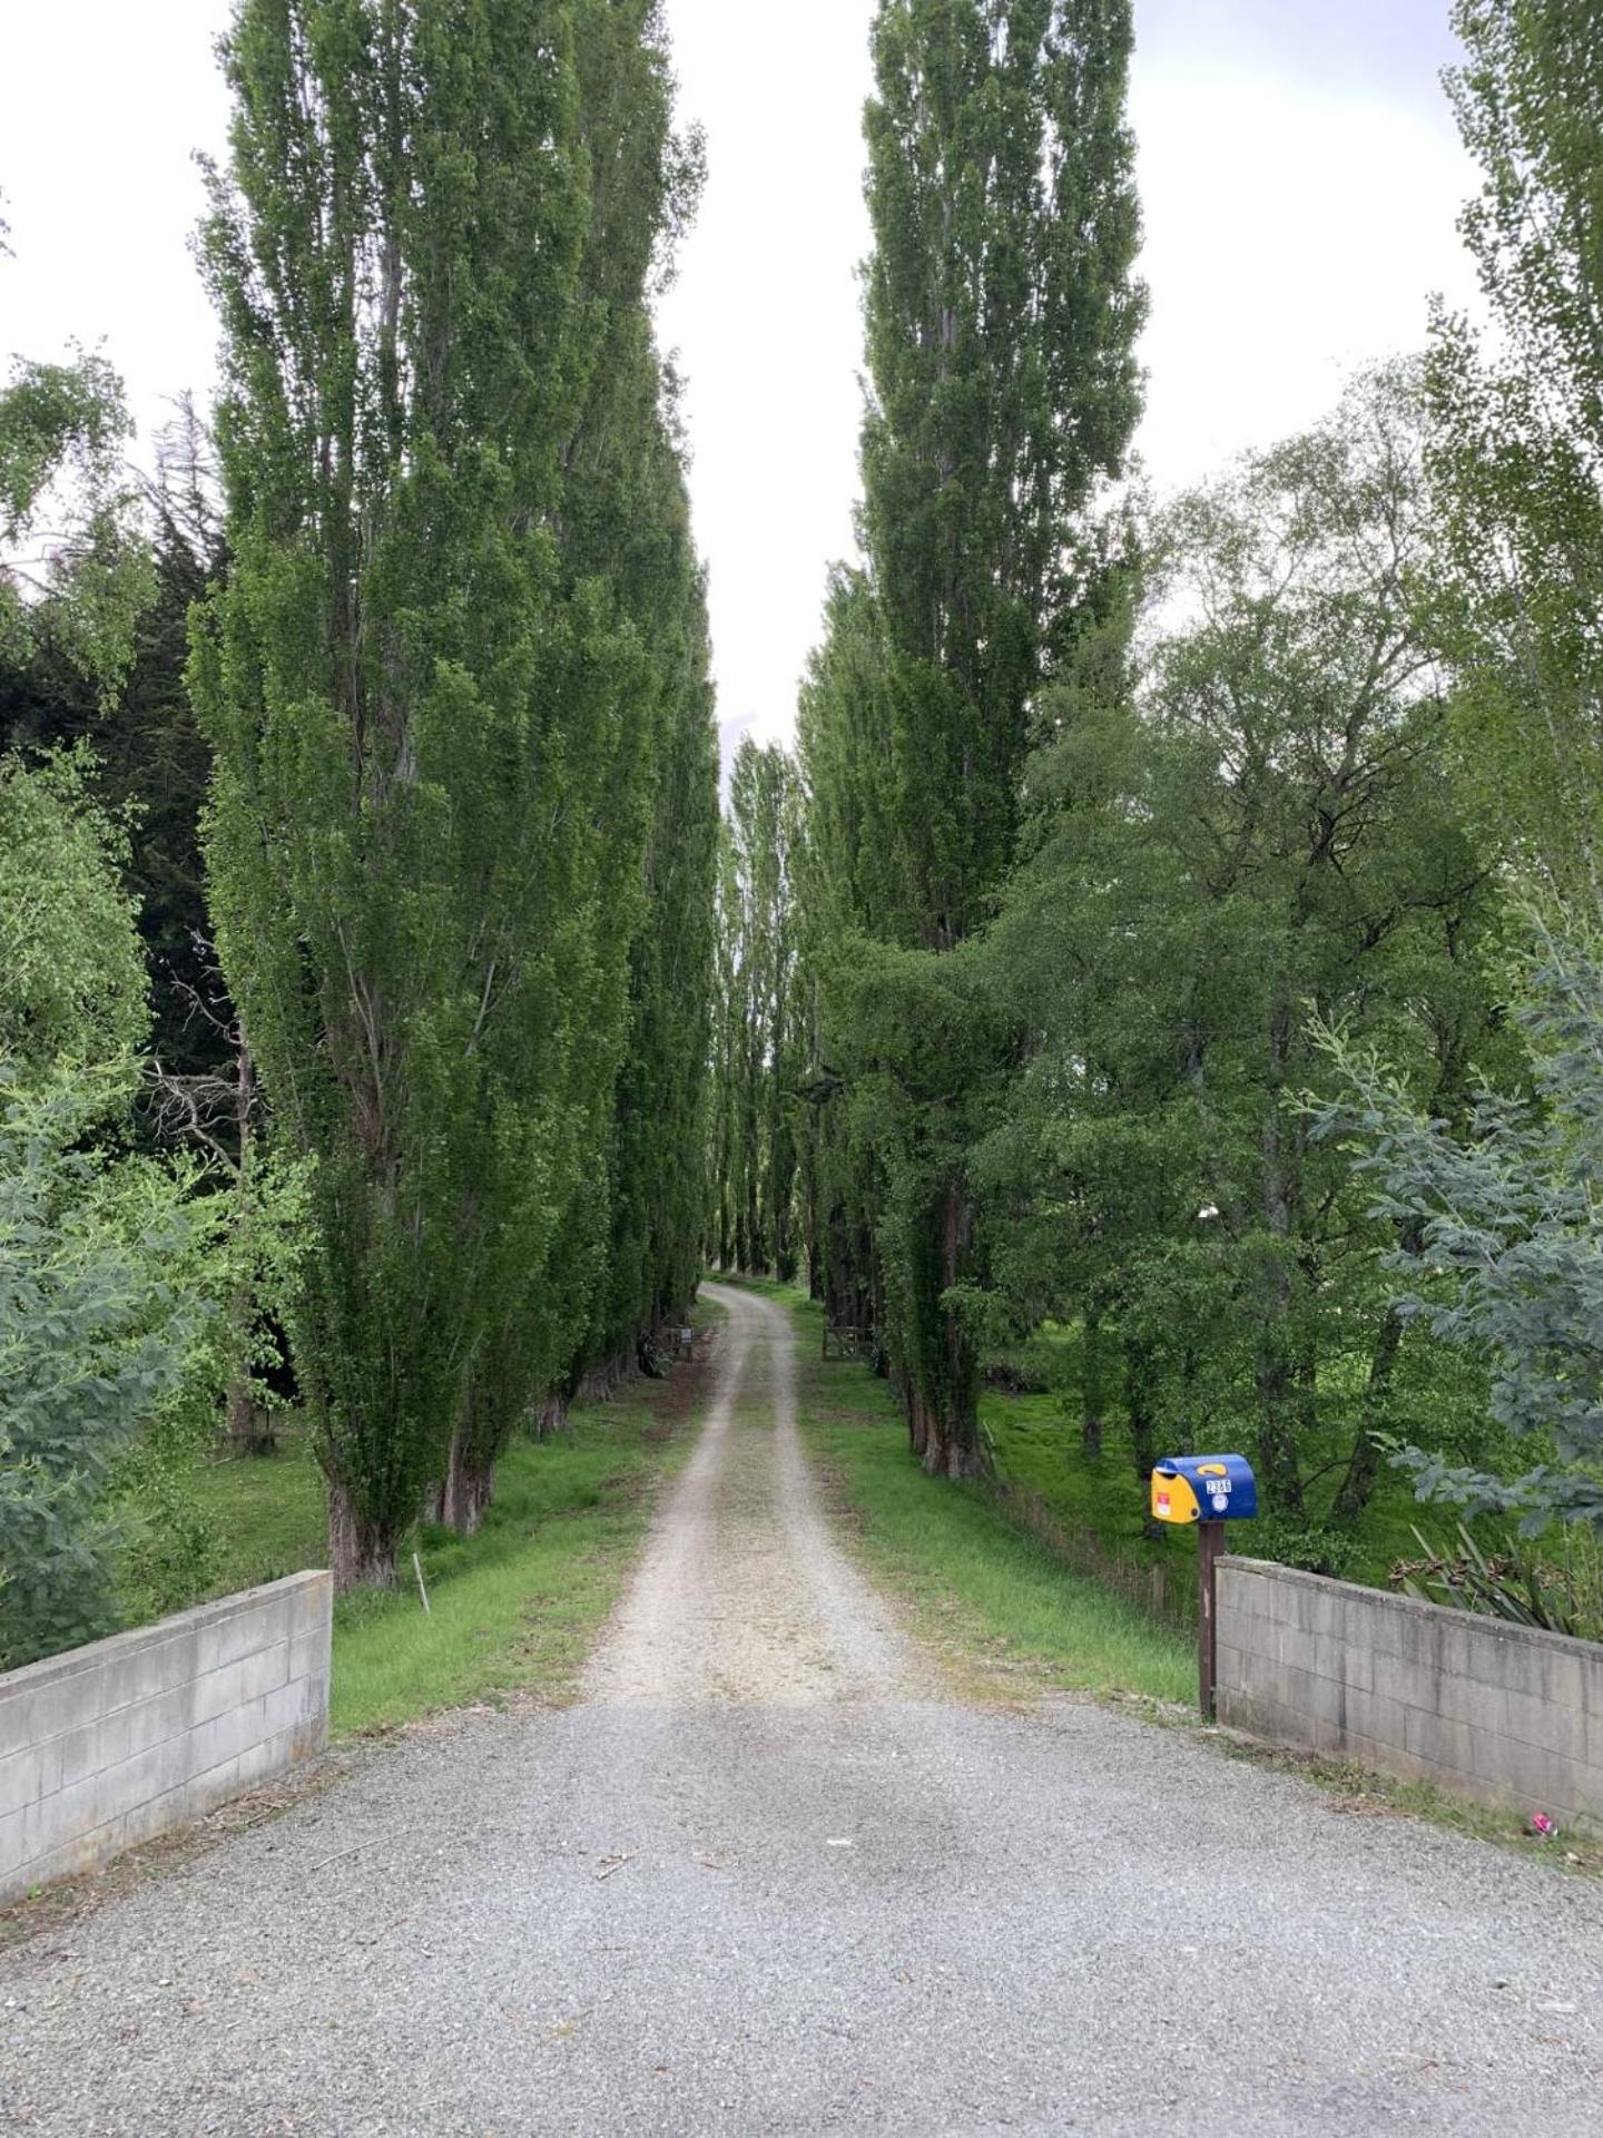
[[[663,314],[688,378],[697,539],[727,733],[791,729],[825,564],[851,549],[868,246],[872,0],[667,0],[710,184]],[[190,152],[220,148],[227,0],[0,0],[0,355],[96,342],[141,430],[209,389]],[[1447,0],[1137,0],[1152,325],[1141,451],[1161,487],[1334,402],[1468,301],[1475,188],[1436,75]]]

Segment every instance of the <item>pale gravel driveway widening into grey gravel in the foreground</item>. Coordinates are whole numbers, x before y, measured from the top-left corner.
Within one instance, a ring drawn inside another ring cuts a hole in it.
[[[784,1315],[564,1713],[408,1738],[0,1958],[0,2129],[1603,2129],[1603,1892],[1180,1732],[943,1698]]]

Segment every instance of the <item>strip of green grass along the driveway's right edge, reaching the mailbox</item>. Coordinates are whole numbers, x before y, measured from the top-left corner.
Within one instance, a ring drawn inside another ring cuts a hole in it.
[[[821,1360],[821,1311],[787,1285],[750,1285],[789,1306],[799,1336],[797,1417],[866,1563],[938,1646],[996,1687],[1195,1698],[1197,1653],[1146,1612],[1064,1569],[983,1486],[925,1477],[885,1381]]]

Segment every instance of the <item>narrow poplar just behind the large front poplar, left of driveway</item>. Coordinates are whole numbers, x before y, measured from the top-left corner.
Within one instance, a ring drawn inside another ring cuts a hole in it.
[[[682,1317],[707,1214],[718,731],[705,582],[690,539],[678,381],[652,340],[650,297],[673,276],[703,152],[673,126],[656,0],[596,0],[579,43],[594,224],[590,301],[605,323],[569,453],[564,556],[603,582],[641,667],[605,804],[598,898],[611,926],[613,1045],[605,1135],[581,1225],[598,1283],[556,1392],[609,1385]]]

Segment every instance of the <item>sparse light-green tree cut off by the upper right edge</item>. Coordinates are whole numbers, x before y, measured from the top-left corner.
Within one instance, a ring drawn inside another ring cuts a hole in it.
[[[1597,909],[1603,731],[1603,41],[1590,0],[1458,0],[1449,75],[1483,188],[1462,218],[1494,331],[1434,321],[1434,631],[1460,776],[1520,866]]]

